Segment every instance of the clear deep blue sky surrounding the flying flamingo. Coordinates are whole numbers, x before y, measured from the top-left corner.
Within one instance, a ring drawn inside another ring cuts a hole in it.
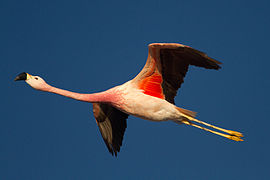
[[[0,2],[0,179],[269,179],[270,3],[265,0]],[[130,116],[112,157],[92,106],[38,92],[103,91],[132,79],[152,42],[189,45],[223,62],[192,67],[176,104],[243,132],[244,142]]]

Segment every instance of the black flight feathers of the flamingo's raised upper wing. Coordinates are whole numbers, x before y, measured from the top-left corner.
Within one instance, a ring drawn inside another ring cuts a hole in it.
[[[184,82],[189,65],[206,69],[219,69],[218,64],[221,64],[205,53],[187,46],[176,49],[160,49],[160,63],[162,66],[163,93],[165,99],[173,104],[177,90]]]

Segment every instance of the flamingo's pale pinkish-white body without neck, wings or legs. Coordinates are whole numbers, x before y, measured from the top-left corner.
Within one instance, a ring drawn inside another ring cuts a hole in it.
[[[181,113],[175,108],[175,105],[168,101],[143,93],[143,90],[136,88],[132,81],[110,89],[117,96],[117,102],[112,104],[126,112],[146,120],[167,121],[181,119]]]

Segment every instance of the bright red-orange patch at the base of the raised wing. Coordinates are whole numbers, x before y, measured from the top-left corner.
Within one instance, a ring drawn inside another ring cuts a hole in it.
[[[155,72],[151,76],[141,80],[139,83],[139,88],[144,90],[144,94],[164,99],[161,83],[162,76]]]

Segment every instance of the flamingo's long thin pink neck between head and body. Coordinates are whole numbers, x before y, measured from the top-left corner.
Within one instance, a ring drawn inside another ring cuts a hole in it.
[[[112,97],[113,97],[113,94],[107,91],[101,92],[101,93],[93,93],[93,94],[81,94],[81,93],[67,91],[64,89],[59,89],[53,86],[51,86],[46,91],[59,94],[62,96],[66,96],[72,99],[76,99],[78,101],[85,101],[85,102],[112,102]]]

